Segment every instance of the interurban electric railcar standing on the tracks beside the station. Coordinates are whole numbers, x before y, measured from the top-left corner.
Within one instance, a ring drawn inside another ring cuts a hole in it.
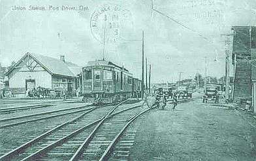
[[[89,61],[82,68],[82,94],[86,102],[114,102],[140,96],[141,81],[123,66],[110,61]]]

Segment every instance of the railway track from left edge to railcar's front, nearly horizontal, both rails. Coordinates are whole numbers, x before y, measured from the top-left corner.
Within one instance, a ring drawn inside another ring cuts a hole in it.
[[[52,111],[46,111],[41,113],[34,113],[31,115],[22,115],[19,117],[10,117],[5,119],[0,119],[0,128],[5,128],[8,126],[16,126],[16,125],[25,124],[25,123],[32,123],[35,121],[50,119],[53,117],[59,117],[63,115],[71,115],[73,113],[80,113],[82,111],[88,111],[91,109],[93,109],[93,107],[88,108],[88,106],[86,105],[86,106],[65,108],[61,110],[52,110]]]

